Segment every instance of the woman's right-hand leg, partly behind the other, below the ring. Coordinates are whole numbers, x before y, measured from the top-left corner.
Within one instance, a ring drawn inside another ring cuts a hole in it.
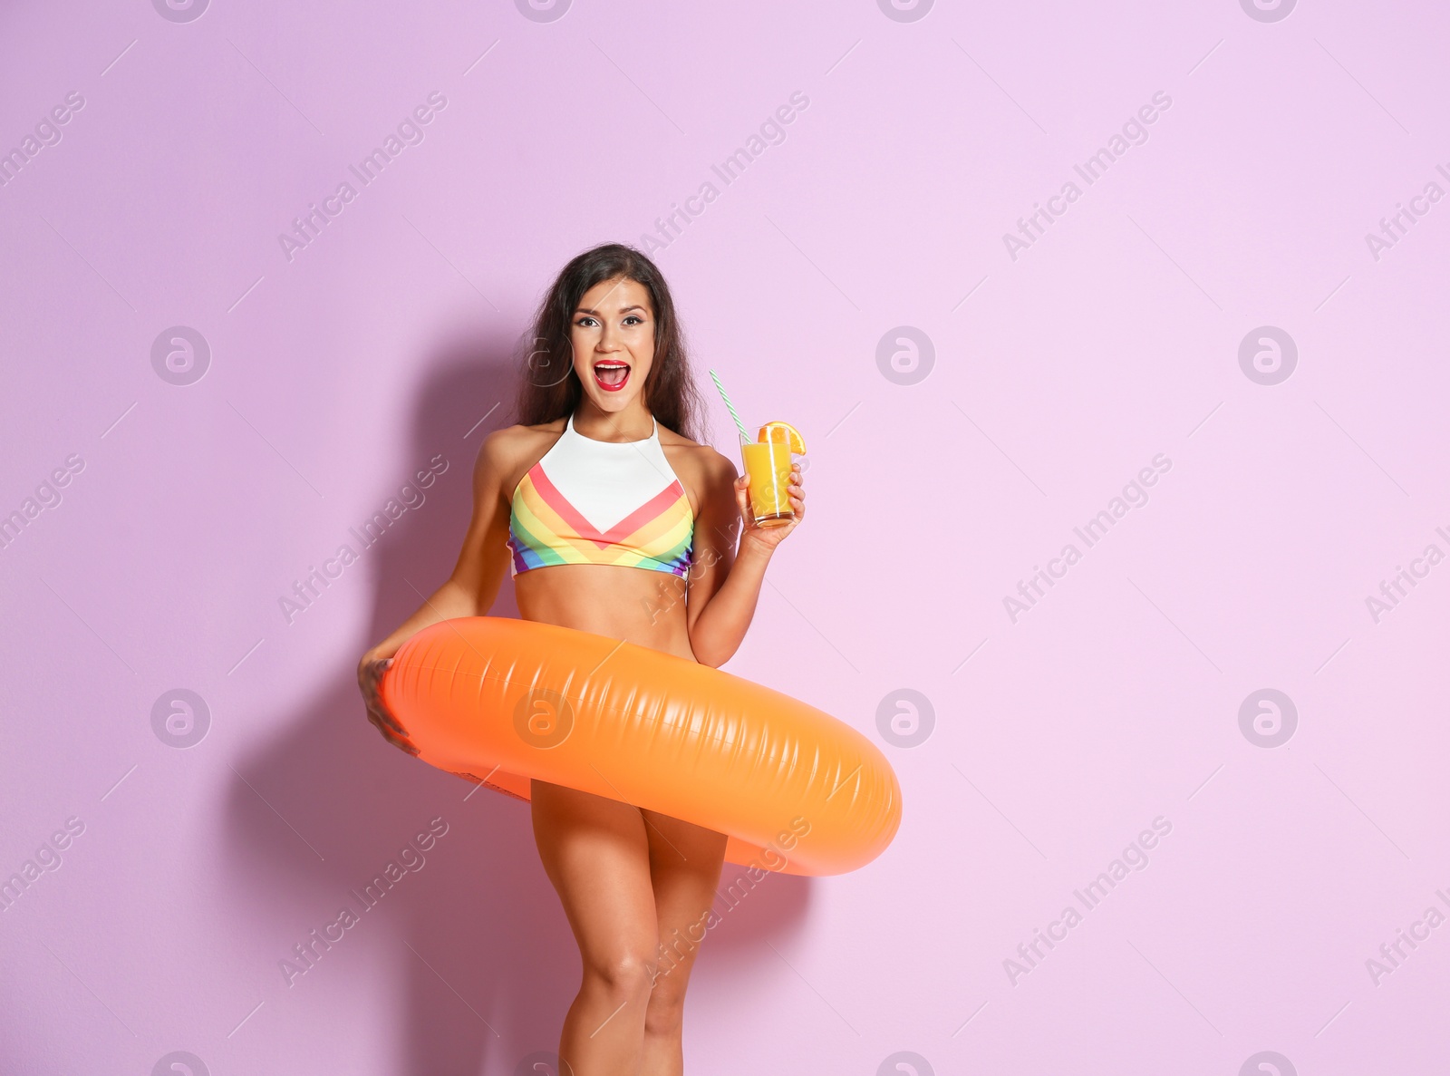
[[[660,937],[658,969],[644,1019],[639,1076],[682,1076],[684,988],[705,940],[725,860],[725,834],[641,811],[650,841],[650,877]]]

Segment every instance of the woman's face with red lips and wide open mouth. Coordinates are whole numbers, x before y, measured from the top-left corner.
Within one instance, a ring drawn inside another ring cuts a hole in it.
[[[634,406],[654,361],[650,291],[625,277],[594,284],[574,307],[570,341],[584,394],[612,413]]]

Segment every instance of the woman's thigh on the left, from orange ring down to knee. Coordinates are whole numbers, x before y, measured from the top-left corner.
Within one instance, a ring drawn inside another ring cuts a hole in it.
[[[589,792],[531,783],[534,840],[558,892],[586,973],[652,963],[658,941],[650,843],[639,808]]]

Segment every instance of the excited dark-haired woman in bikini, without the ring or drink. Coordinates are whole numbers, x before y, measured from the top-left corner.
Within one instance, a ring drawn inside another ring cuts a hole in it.
[[[505,566],[526,621],[718,667],[745,637],[771,553],[805,515],[799,464],[795,522],[758,528],[748,479],[695,439],[702,406],[674,303],[638,251],[608,244],[570,261],[532,339],[519,425],[478,451],[452,574],[358,664],[368,718],[405,750],[378,677],[419,629],[487,613]],[[661,940],[706,915],[725,834],[541,780],[531,796],[539,858],[584,969],[560,1038],[563,1070],[683,1073],[684,989],[699,950],[676,947],[660,974]]]

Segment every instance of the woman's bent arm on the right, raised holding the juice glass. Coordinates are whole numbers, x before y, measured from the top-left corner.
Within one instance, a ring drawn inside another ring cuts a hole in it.
[[[790,508],[796,518],[784,526],[755,526],[750,479],[737,477],[735,464],[719,454],[708,468],[702,500],[700,518],[695,522],[686,625],[695,660],[718,669],[740,650],[755,616],[770,555],[805,518],[800,464],[790,465]]]

